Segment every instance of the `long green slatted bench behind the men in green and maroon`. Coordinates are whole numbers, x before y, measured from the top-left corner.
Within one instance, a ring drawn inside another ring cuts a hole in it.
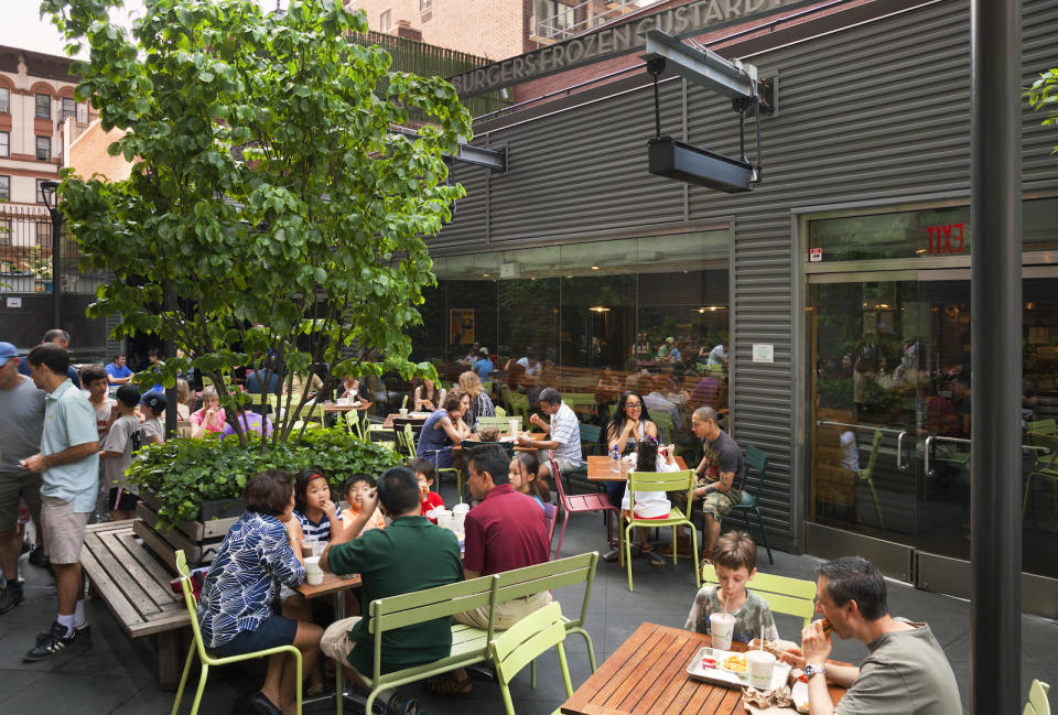
[[[368,630],[374,636],[373,672],[359,673],[360,679],[370,687],[364,711],[371,712],[371,705],[382,690],[397,687],[415,681],[440,675],[458,668],[481,663],[490,658],[488,643],[493,640],[493,622],[496,605],[530,594],[538,594],[571,584],[584,583],[585,609],[591,594],[592,581],[598,554],[595,552],[549,561],[535,566],[516,568],[501,574],[482,576],[471,581],[461,581],[446,586],[436,586],[410,594],[389,596],[373,600],[368,613]],[[452,650],[446,658],[403,668],[393,672],[381,672],[382,637],[387,631],[422,624],[436,618],[449,618],[457,613],[487,606],[489,627],[487,630],[463,624],[452,625]],[[591,638],[583,629],[581,618],[565,619],[569,632],[581,633],[592,652]],[[594,658],[592,658],[594,669]],[[535,674],[533,670],[533,674]],[[337,683],[342,687],[342,669],[337,669]],[[533,675],[533,682],[536,678]],[[338,698],[338,715],[342,715],[342,698]]]

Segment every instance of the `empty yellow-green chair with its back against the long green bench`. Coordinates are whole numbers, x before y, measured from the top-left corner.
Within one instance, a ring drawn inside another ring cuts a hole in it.
[[[515,705],[510,700],[510,681],[529,663],[536,664],[536,659],[554,648],[559,652],[559,665],[562,669],[562,682],[565,685],[565,695],[573,695],[573,683],[570,680],[570,667],[565,661],[565,626],[562,621],[562,607],[552,602],[536,610],[504,631],[498,638],[489,642],[488,649],[496,665],[496,680],[504,695],[504,707],[507,715],[515,715]],[[536,686],[536,679],[532,685]],[[560,713],[561,708],[552,715]]]

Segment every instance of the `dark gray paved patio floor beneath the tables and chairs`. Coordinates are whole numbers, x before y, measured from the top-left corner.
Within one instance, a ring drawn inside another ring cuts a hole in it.
[[[445,492],[447,489],[444,490]],[[445,494],[445,496],[450,496]],[[668,535],[662,532],[662,539]],[[601,518],[590,514],[570,519],[563,554],[593,549],[603,550],[605,530]],[[558,542],[558,537],[555,537]],[[767,563],[762,550],[762,571],[799,578],[812,578],[817,561],[775,552],[775,565]],[[130,640],[106,606],[91,597],[86,602],[91,625],[90,647],[62,653],[51,660],[23,663],[22,653],[32,644],[34,633],[47,628],[55,614],[55,589],[51,573],[20,562],[25,575],[25,602],[0,616],[0,712],[4,715],[76,712],[78,715],[165,714],[173,704],[173,693],[159,691],[158,659],[147,640]],[[668,563],[651,566],[645,560],[634,563],[634,593],[628,592],[624,568],[616,563],[600,562],[592,591],[586,629],[595,642],[600,663],[644,621],[683,627],[694,598],[694,577],[687,560],[678,566]],[[916,591],[889,582],[889,607],[896,616],[926,621],[943,646],[959,681],[963,712],[969,713],[970,692],[970,604],[965,600]],[[576,613],[583,591],[565,588],[555,598],[565,613]],[[779,633],[799,639],[800,624],[789,616],[776,617]],[[1022,618],[1022,694],[1027,697],[1034,678],[1058,684],[1058,622],[1037,616]],[[566,639],[566,652],[573,685],[590,674],[584,640]],[[855,641],[841,641],[834,658],[859,663],[866,649]],[[538,661],[538,685],[529,686],[528,669],[511,683],[519,715],[551,713],[564,700],[558,658],[553,651]],[[194,678],[194,673],[192,675]],[[245,696],[260,686],[263,661],[245,667],[233,665],[210,672],[201,713],[228,714],[252,712]],[[418,697],[421,712],[443,714],[503,713],[499,687],[495,683],[474,681],[471,700],[450,700],[431,695],[420,685],[400,689],[400,694]],[[192,695],[185,695],[182,712],[187,712]],[[305,707],[305,712],[333,712],[333,702]],[[356,713],[354,705],[346,712]]]

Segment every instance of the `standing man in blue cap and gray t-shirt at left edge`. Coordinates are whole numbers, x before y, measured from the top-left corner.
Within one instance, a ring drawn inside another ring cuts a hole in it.
[[[37,544],[42,543],[41,475],[23,469],[19,463],[41,451],[44,391],[19,372],[19,362],[14,346],[0,343],[0,568],[8,579],[8,587],[0,592],[0,614],[22,600],[18,578],[19,499],[30,506]],[[43,546],[37,549],[43,556]]]

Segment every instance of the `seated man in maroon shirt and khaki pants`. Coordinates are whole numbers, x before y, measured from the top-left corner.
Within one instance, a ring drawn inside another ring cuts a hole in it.
[[[511,568],[546,562],[551,555],[543,511],[531,497],[515,491],[509,479],[510,461],[503,448],[487,445],[468,449],[467,486],[482,502],[466,514],[466,578],[488,576]],[[522,617],[551,603],[543,592],[496,606],[493,626],[506,630]],[[488,627],[488,608],[455,615],[455,620]]]

